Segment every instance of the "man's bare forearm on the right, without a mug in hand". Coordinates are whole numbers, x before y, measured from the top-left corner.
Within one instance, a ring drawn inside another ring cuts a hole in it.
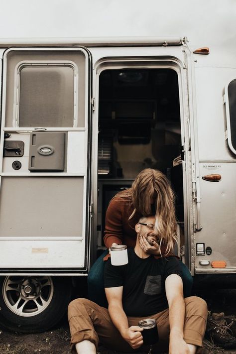
[[[169,354],[189,354],[189,348],[184,341],[185,303],[182,279],[177,274],[169,275],[165,281],[165,288],[169,305]]]

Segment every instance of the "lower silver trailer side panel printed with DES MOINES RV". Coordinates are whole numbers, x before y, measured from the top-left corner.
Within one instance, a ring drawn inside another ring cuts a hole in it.
[[[220,174],[220,182],[209,182],[202,177]],[[227,268],[236,268],[236,163],[200,164],[200,224],[196,242],[212,248],[210,255],[196,256],[196,267],[212,270],[210,265],[200,265],[200,260],[225,260]],[[221,269],[218,270],[221,272]]]

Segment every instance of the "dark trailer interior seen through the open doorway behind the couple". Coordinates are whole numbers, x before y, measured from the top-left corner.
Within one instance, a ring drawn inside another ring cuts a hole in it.
[[[178,75],[164,68],[108,69],[100,74],[99,89],[98,250],[106,248],[110,200],[129,188],[141,170],[154,168],[168,177],[176,193],[180,254],[184,202]]]

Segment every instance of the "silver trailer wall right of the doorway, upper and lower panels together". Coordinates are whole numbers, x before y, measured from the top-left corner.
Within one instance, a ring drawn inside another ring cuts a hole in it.
[[[232,90],[229,84],[235,80],[236,65],[230,55],[220,57],[217,51],[210,55],[210,63],[205,57],[195,64],[202,230],[196,233],[194,243],[205,245],[203,256],[195,249],[195,273],[235,273],[236,151],[232,146],[235,111],[232,99],[229,102]],[[209,182],[202,178],[209,174],[220,174],[222,179]],[[202,260],[209,263],[201,265]],[[213,267],[215,261],[224,261],[225,266]]]

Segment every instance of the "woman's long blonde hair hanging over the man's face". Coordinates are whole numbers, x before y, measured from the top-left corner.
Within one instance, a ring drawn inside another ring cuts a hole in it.
[[[139,172],[132,187],[118,193],[119,197],[132,200],[133,212],[147,217],[155,215],[155,230],[161,244],[166,246],[165,255],[170,253],[177,240],[177,223],[175,217],[175,195],[167,177],[160,171],[146,168]],[[153,213],[152,205],[155,206]]]

